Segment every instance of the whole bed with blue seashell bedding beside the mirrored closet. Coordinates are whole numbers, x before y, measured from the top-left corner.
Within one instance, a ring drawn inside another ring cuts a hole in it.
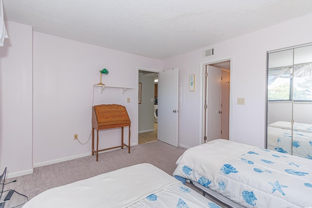
[[[234,208],[312,206],[309,159],[216,139],[186,150],[176,165],[175,177]]]

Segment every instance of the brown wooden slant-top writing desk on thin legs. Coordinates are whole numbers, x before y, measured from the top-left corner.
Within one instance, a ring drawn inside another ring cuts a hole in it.
[[[128,145],[123,143],[123,127],[125,126],[129,127]],[[129,115],[126,108],[122,105],[97,105],[92,108],[92,155],[97,155],[97,161],[99,151],[110,150],[119,147],[123,149],[123,147],[128,147],[128,152],[130,153],[130,126],[131,121]],[[121,145],[98,150],[98,130],[118,127],[121,127]],[[94,130],[97,130],[97,150],[94,149]]]

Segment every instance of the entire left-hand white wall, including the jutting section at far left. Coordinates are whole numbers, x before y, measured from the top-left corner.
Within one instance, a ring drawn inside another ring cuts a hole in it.
[[[32,37],[31,26],[11,21],[6,26],[9,44],[0,48],[1,170],[8,167],[12,177],[29,173],[33,164],[90,155],[91,140],[81,145],[74,133],[82,143],[88,140],[92,104],[124,105],[131,119],[131,144],[137,144],[137,67],[160,71],[162,61],[38,32]],[[93,103],[93,85],[103,68],[109,74],[102,83],[134,89],[122,95],[121,89],[105,88],[100,94],[95,87]],[[127,128],[124,134],[127,141]],[[99,137],[99,149],[117,146],[121,130],[100,131]]]

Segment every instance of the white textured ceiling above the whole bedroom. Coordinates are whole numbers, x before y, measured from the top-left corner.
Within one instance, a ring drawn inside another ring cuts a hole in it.
[[[312,0],[2,1],[4,19],[34,31],[156,59],[312,13]]]

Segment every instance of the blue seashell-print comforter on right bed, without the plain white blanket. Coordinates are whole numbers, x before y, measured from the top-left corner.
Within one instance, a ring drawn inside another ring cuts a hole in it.
[[[194,152],[193,157],[201,155]],[[229,158],[220,169],[216,183],[188,165],[178,164],[173,174],[196,181],[243,207],[312,206],[312,161],[276,151],[255,148]]]

